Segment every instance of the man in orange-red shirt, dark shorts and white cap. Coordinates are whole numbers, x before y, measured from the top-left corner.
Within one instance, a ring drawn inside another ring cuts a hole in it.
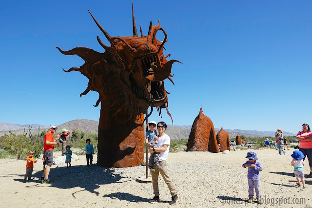
[[[47,166],[45,167],[43,174],[40,178],[39,181],[42,181],[42,184],[50,184],[53,181],[49,180],[49,173],[50,173],[50,168],[53,165],[53,149],[54,145],[59,146],[59,143],[56,142],[56,139],[54,139],[53,134],[57,130],[57,126],[51,125],[50,131],[48,131],[44,135],[44,146],[43,146],[43,154],[47,162]],[[59,139],[60,135],[58,134]]]

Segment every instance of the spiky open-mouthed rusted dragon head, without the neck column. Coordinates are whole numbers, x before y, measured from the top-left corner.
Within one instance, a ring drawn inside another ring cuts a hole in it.
[[[89,10],[88,10],[89,11]],[[72,67],[65,72],[79,71],[89,79],[87,89],[80,94],[87,94],[90,90],[99,93],[99,99],[95,106],[103,99],[111,99],[112,116],[115,116],[123,107],[131,109],[129,119],[138,118],[142,113],[147,113],[151,106],[157,108],[161,116],[161,109],[166,108],[168,115],[169,94],[164,86],[164,80],[172,81],[171,67],[177,60],[167,60],[163,55],[164,44],[167,42],[165,30],[157,25],[152,26],[150,22],[148,35],[144,36],[140,27],[141,36],[137,35],[137,27],[132,6],[133,36],[111,37],[98,23],[89,11],[93,20],[98,25],[110,46],[105,45],[99,37],[98,43],[105,49],[104,53],[99,53],[89,48],[77,47],[72,50],[59,51],[65,55],[78,55],[85,63],[77,67]],[[162,31],[164,40],[158,41],[156,33]],[[181,62],[180,62],[181,63]],[[117,105],[117,103],[119,105]],[[114,107],[117,105],[116,107]],[[172,119],[172,118],[171,118]]]

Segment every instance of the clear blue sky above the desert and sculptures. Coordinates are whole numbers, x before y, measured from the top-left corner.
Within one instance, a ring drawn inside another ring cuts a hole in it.
[[[112,37],[132,35],[130,0],[0,1],[0,122],[98,121],[98,93],[80,98],[88,79],[62,70],[82,59],[55,48],[104,52],[87,8]],[[134,0],[134,9],[144,34],[160,20],[165,53],[183,62],[173,65],[175,86],[165,81],[174,125],[192,125],[200,106],[217,128],[312,124],[312,1]],[[166,110],[151,120],[171,124]]]

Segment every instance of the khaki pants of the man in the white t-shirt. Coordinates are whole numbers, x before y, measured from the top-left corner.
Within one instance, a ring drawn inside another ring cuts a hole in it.
[[[153,168],[155,171],[151,171],[152,180],[153,180],[153,190],[155,196],[159,196],[159,189],[158,189],[158,175],[162,176],[165,183],[167,184],[171,196],[174,196],[176,194],[176,187],[175,185],[170,181],[168,170],[167,170],[167,162],[166,161],[159,161],[159,164],[162,168],[158,168],[157,166],[153,165]]]

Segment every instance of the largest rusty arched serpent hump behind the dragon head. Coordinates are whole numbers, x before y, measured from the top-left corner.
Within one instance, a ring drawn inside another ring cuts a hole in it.
[[[213,122],[203,114],[200,107],[199,114],[195,118],[187,143],[186,151],[210,151],[219,152],[215,138]]]

